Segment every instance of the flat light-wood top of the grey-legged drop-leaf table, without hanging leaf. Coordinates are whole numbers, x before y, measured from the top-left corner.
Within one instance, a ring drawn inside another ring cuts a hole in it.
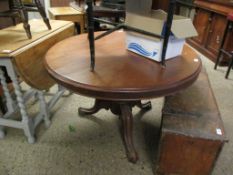
[[[52,30],[48,30],[42,20],[33,19],[29,21],[29,24],[31,25],[32,39],[25,36],[22,23],[0,30],[0,59],[2,57],[15,57],[38,42],[49,38],[52,33],[62,27],[73,25],[68,21],[51,20]],[[5,50],[9,52],[4,52]]]

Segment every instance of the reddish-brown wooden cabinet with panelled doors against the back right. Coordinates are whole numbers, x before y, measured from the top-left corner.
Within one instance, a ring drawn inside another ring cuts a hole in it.
[[[221,45],[223,34],[227,24],[227,15],[233,12],[233,7],[225,4],[213,3],[209,1],[195,1],[196,14],[194,17],[194,26],[197,29],[198,36],[188,40],[188,43],[210,58],[216,61],[218,50]],[[229,32],[225,48],[233,50],[233,32]],[[228,58],[223,58],[221,65],[227,64]]]

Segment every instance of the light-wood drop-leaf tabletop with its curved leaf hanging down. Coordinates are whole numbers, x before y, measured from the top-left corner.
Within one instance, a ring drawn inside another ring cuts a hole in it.
[[[44,68],[43,60],[47,50],[56,42],[74,35],[71,22],[51,21],[52,30],[48,30],[42,20],[32,22],[33,39],[25,38],[21,25],[0,31],[0,50],[10,50],[1,53],[1,59],[12,59],[20,77],[31,87],[45,90],[55,82]]]

